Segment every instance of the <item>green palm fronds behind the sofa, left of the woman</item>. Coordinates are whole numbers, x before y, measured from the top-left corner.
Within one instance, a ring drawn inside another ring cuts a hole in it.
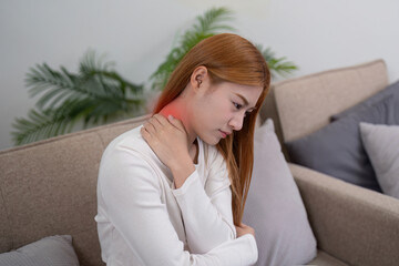
[[[79,73],[43,63],[30,70],[25,82],[31,96],[41,96],[28,119],[13,123],[17,145],[69,133],[76,122],[85,129],[144,112],[143,85],[121,78],[93,51],[84,54]]]

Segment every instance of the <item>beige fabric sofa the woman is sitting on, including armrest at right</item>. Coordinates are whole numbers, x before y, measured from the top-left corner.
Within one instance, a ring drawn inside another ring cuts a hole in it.
[[[284,81],[274,85],[260,117],[274,119],[282,142],[294,140],[387,83],[381,60]],[[112,139],[146,117],[1,151],[0,253],[68,234],[81,265],[104,265],[93,219],[100,158]],[[289,167],[318,242],[318,256],[309,264],[399,264],[398,200],[299,165]]]

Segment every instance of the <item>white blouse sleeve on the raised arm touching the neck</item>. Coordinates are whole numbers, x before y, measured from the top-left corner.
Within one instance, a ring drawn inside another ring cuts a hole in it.
[[[205,187],[195,171],[183,186],[173,191],[182,211],[190,249],[198,254],[236,238],[226,163],[214,150]]]

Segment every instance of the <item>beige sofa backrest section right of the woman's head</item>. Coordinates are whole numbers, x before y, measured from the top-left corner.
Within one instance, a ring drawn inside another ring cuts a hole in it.
[[[286,80],[273,86],[284,141],[315,132],[330,116],[354,106],[388,85],[383,60]],[[280,140],[280,141],[283,141]]]

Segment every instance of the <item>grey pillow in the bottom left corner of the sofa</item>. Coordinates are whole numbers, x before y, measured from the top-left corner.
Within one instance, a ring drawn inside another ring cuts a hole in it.
[[[49,236],[0,254],[0,266],[79,266],[70,235]]]

